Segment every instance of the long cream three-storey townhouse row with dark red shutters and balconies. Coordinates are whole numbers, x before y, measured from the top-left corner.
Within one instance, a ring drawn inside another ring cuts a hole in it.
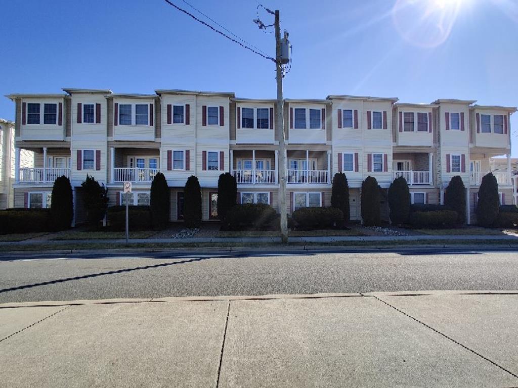
[[[49,206],[55,178],[66,175],[74,187],[75,220],[81,222],[81,183],[87,174],[106,185],[109,205],[125,203],[126,181],[133,184],[130,204],[146,205],[160,171],[170,187],[171,221],[183,217],[183,187],[190,175],[202,187],[204,220],[217,219],[218,177],[224,172],[236,177],[239,203],[279,209],[281,134],[275,100],[167,89],[149,95],[63,91],[8,96],[16,103],[16,207]],[[516,108],[475,102],[415,104],[348,95],[286,99],[289,212],[329,206],[337,172],[347,175],[353,220],[361,220],[360,189],[369,175],[382,190],[404,176],[412,203],[436,204],[443,203],[451,177],[460,175],[467,188],[468,223],[473,223],[482,176],[497,155],[507,155],[507,168],[494,171],[501,203],[515,203],[509,119]],[[35,153],[34,167],[20,166],[21,150]]]

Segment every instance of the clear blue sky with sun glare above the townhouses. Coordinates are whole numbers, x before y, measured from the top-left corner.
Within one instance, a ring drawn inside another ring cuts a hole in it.
[[[183,0],[172,1],[196,14]],[[274,34],[252,22],[257,1],[189,2],[275,54]],[[290,32],[293,65],[284,81],[286,98],[353,94],[402,102],[462,98],[483,105],[518,105],[518,0],[262,4],[280,9],[281,26]],[[426,11],[430,16],[422,20]],[[0,14],[1,95],[84,87],[116,93],[178,88],[276,96],[270,61],[163,0],[2,1]],[[262,9],[259,16],[266,24],[272,22]],[[445,32],[441,36],[434,34],[439,20]],[[0,117],[13,120],[14,111],[10,100],[0,98]],[[518,113],[511,127],[512,154],[518,157]]]

